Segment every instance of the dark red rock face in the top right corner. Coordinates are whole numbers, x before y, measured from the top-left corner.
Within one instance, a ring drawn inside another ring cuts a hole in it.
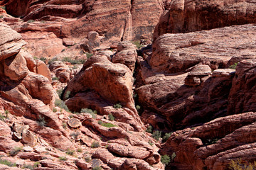
[[[165,33],[188,33],[224,26],[255,23],[254,1],[166,1],[154,31],[154,39]]]

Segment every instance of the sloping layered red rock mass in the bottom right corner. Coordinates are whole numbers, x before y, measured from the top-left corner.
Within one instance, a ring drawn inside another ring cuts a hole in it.
[[[255,113],[218,118],[174,132],[161,154],[174,154],[177,169],[227,169],[230,160],[255,161]]]

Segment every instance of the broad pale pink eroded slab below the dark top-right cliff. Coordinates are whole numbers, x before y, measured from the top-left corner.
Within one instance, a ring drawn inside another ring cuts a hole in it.
[[[235,55],[255,58],[250,40],[256,38],[254,25],[216,28],[186,34],[164,34],[153,44],[150,65],[157,72],[181,72],[198,63],[211,69],[225,68]],[[250,36],[247,36],[247,33]],[[238,61],[237,61],[238,62]]]

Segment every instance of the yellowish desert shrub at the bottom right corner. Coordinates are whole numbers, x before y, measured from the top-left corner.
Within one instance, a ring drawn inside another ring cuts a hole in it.
[[[231,160],[228,168],[232,170],[255,170],[256,162],[242,163],[241,159]]]

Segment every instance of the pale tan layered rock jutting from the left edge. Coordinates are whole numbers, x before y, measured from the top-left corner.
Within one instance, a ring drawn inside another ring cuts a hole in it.
[[[3,23],[0,23],[0,30],[0,61],[2,61],[16,55],[21,47],[25,45],[25,42],[21,40],[21,35]]]

